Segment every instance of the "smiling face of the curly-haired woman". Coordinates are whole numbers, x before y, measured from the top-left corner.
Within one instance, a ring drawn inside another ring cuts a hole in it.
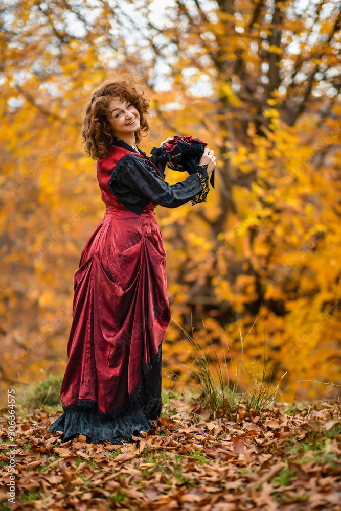
[[[134,133],[140,128],[139,111],[130,101],[119,97],[111,98],[108,103],[109,123],[112,132],[118,138]]]

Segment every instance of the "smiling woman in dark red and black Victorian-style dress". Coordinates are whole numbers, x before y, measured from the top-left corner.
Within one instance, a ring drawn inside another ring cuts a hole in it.
[[[157,204],[206,202],[215,157],[206,148],[196,171],[170,186],[138,148],[149,130],[148,109],[130,75],[106,80],[84,108],[83,144],[97,160],[106,210],[74,275],[64,413],[49,428],[64,440],[77,434],[95,444],[129,440],[161,412],[170,308],[166,251],[153,211]]]

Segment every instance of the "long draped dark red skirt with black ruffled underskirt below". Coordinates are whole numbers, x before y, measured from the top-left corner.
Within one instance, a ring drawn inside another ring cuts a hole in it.
[[[166,250],[154,203],[139,215],[110,197],[74,275],[64,413],[49,431],[90,443],[148,431],[161,412],[162,340],[169,321]]]

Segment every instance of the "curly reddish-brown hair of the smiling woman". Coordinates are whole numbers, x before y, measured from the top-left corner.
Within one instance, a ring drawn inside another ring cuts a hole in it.
[[[81,135],[86,156],[97,160],[106,158],[113,141],[113,133],[108,120],[108,103],[118,96],[121,101],[128,100],[140,114],[140,128],[135,131],[135,142],[141,142],[142,133],[147,134],[150,127],[147,121],[149,101],[143,97],[144,90],[130,73],[105,80],[88,98],[82,112]],[[145,136],[145,135],[144,135]]]

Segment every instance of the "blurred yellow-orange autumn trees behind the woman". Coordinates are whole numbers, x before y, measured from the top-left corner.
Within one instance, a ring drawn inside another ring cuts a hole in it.
[[[217,156],[207,203],[155,209],[172,318],[198,345],[212,341],[230,379],[243,347],[257,380],[265,330],[274,382],[286,373],[282,387],[292,384],[286,399],[325,397],[341,372],[339,3],[0,9],[3,389],[63,375],[73,274],[105,211],[80,111],[104,79],[131,72],[151,99],[142,150],[192,135]],[[166,172],[170,184],[185,178]],[[192,370],[181,334],[171,321],[164,386]]]

